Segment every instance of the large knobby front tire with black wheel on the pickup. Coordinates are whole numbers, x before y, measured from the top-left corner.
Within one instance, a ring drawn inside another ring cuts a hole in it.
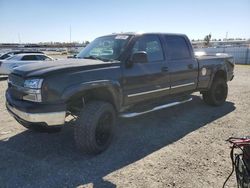
[[[87,103],[76,120],[74,138],[77,148],[89,154],[106,150],[114,135],[115,122],[116,113],[110,103]]]

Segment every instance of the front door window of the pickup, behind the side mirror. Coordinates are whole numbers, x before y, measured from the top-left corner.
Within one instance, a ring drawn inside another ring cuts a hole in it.
[[[149,62],[163,61],[163,51],[161,42],[157,36],[142,36],[139,38],[132,49],[132,53],[145,51],[148,55]]]

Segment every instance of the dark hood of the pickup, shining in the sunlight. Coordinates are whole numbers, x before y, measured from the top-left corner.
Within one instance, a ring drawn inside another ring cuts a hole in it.
[[[63,71],[84,71],[91,69],[104,68],[109,66],[118,65],[120,62],[103,62],[100,60],[92,59],[65,59],[55,61],[44,61],[39,63],[32,63],[17,67],[13,70],[13,74],[21,77],[39,77],[48,74],[54,74],[55,72]]]

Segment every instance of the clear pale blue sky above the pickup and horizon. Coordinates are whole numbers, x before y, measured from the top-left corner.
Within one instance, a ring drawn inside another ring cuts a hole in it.
[[[250,38],[250,0],[0,0],[0,43],[91,41],[118,32]]]

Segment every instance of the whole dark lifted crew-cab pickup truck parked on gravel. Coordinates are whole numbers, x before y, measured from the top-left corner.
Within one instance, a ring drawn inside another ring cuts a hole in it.
[[[91,42],[75,59],[36,63],[9,75],[6,107],[24,127],[56,131],[75,121],[80,151],[110,144],[118,116],[131,118],[190,101],[222,105],[233,79],[228,55],[195,57],[185,35],[121,33]]]

